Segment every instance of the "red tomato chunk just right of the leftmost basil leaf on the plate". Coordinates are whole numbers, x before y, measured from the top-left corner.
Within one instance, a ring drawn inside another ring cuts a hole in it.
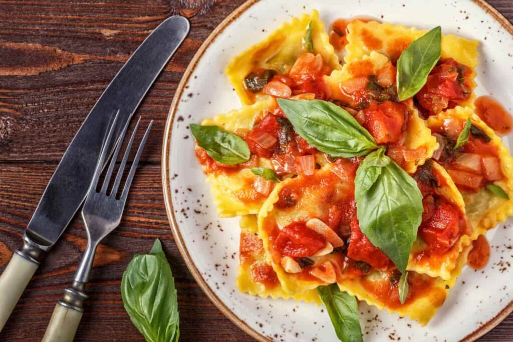
[[[271,157],[277,146],[279,130],[280,124],[274,115],[264,116],[262,121],[246,135],[246,143],[251,153],[259,157]]]

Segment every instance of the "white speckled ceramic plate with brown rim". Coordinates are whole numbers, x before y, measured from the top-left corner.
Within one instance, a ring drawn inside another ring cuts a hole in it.
[[[234,11],[198,51],[176,92],[164,137],[163,182],[171,228],[193,276],[221,311],[260,340],[337,341],[337,337],[322,307],[236,290],[238,218],[216,216],[188,125],[239,108],[224,73],[229,61],[291,16],[312,9],[319,10],[327,27],[339,17],[369,15],[420,29],[441,25],[443,33],[477,39],[481,43],[477,95],[492,94],[510,112],[513,107],[509,53],[513,28],[482,1],[250,0]],[[511,146],[511,140],[504,140]],[[512,223],[509,220],[487,234],[492,251],[488,266],[483,271],[465,268],[428,326],[361,303],[365,340],[473,340],[497,325],[513,310],[513,270],[508,266],[513,264]]]

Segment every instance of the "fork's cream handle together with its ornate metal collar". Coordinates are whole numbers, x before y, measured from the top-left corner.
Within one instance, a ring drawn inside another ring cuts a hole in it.
[[[52,318],[46,328],[42,342],[71,342],[75,336],[84,309],[82,302],[87,298],[85,283],[73,282],[64,290],[64,298],[57,302]]]

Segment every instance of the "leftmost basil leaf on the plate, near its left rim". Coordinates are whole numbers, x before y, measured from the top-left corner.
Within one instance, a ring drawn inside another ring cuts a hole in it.
[[[217,126],[191,124],[191,132],[201,148],[216,162],[234,165],[247,162],[251,152],[248,144],[239,136],[223,131]]]

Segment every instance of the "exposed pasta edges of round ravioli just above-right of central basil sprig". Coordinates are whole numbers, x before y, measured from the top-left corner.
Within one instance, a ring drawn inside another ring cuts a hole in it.
[[[363,55],[360,59],[353,59],[351,63],[345,64],[342,70],[332,71],[331,75],[325,77],[331,89],[332,98],[336,100],[347,99],[347,95],[344,95],[344,91],[341,90],[344,85],[354,87],[351,82],[356,79],[365,81],[365,78],[368,78],[369,75],[376,75],[387,64],[390,64],[390,59],[387,56],[371,51],[369,55]],[[366,87],[368,88],[368,85]],[[413,106],[413,103],[406,101],[404,104],[409,111],[404,141],[401,146],[393,149],[407,156],[404,160],[401,158],[402,162],[399,160],[396,160],[396,162],[406,172],[414,173],[419,165],[423,165],[432,156],[439,145],[437,139],[431,135],[431,131],[426,127],[424,120],[419,117],[419,111]]]

